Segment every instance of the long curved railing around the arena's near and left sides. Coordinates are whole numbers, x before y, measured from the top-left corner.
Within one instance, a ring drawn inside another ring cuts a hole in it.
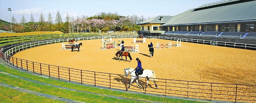
[[[98,38],[100,37],[81,37],[80,40],[91,40]],[[120,38],[120,36],[118,38]],[[45,40],[31,42],[27,44],[19,43],[17,45],[9,44],[10,46],[15,46],[8,50],[4,49],[8,48],[9,45],[1,46],[0,56],[2,60],[12,66],[16,66],[17,68],[25,69],[27,71],[32,71],[33,73],[39,73],[40,75],[80,82],[81,84],[92,84],[94,86],[109,87],[109,89],[125,89],[128,91],[127,87],[128,84],[130,84],[130,76],[126,77],[125,75],[121,74],[102,73],[89,70],[80,70],[76,68],[54,66],[50,64],[19,59],[11,56],[21,50],[28,49],[33,46],[65,42],[67,40],[69,39]],[[140,79],[139,81],[141,84],[143,84],[144,90],[140,89],[137,85],[131,86],[129,90],[140,91],[144,92],[145,94],[160,94],[163,96],[202,98],[209,101],[220,100],[232,102],[256,102],[256,85],[196,82],[157,78],[157,84],[159,89],[153,87],[154,84],[152,81],[149,82],[147,89],[145,89],[147,78]]]

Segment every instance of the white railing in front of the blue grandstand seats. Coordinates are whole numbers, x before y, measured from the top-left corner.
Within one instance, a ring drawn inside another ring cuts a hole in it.
[[[182,42],[194,42],[194,43],[199,43],[199,44],[210,44],[210,45],[218,45],[218,46],[224,46],[224,47],[234,47],[234,48],[240,48],[240,49],[256,50],[256,44],[237,43],[237,42],[222,42],[222,41],[215,41],[215,40],[188,39],[188,38],[181,38],[181,37],[164,37],[164,36],[145,36],[145,37],[164,39],[164,40],[174,40],[174,41],[181,40]]]

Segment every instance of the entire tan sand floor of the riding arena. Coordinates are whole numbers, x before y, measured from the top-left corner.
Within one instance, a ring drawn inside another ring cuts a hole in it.
[[[157,42],[171,42],[174,45],[177,41],[146,38],[145,43],[134,43],[133,37],[112,38],[112,41],[118,43],[118,39],[124,41],[124,46],[135,47],[135,44],[139,44],[139,52],[130,52],[132,61],[128,57],[125,61],[124,56],[123,61],[116,58],[119,46],[102,49],[102,39],[77,41],[83,44],[79,52],[62,49],[62,42],[33,47],[14,54],[9,61],[24,69],[51,77],[110,89],[126,89],[130,76],[124,75],[124,69],[135,68],[135,59],[139,58],[144,69],[156,73],[159,89],[149,81],[149,86],[143,90],[134,81],[128,91],[256,102],[255,50],[181,42],[178,47],[154,48],[154,57],[149,57],[150,42],[156,47]],[[145,78],[141,78],[139,82],[145,87]]]

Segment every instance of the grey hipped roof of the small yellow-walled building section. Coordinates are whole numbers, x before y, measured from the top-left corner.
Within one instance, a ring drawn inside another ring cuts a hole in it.
[[[160,19],[160,17],[163,17],[162,20]],[[154,18],[148,19],[146,21],[142,21],[140,24],[146,24],[146,23],[167,23],[173,16],[156,16]]]

